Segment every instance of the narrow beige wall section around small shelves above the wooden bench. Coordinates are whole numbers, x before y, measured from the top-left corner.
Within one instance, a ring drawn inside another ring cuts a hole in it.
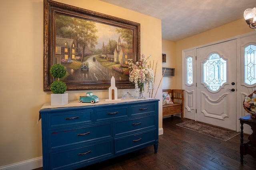
[[[176,54],[175,54],[175,42],[162,39],[162,53],[166,54],[166,63],[162,63],[163,67],[175,68],[176,67]],[[176,68],[175,68],[176,70]],[[164,76],[162,79],[163,89],[176,89],[176,78]]]

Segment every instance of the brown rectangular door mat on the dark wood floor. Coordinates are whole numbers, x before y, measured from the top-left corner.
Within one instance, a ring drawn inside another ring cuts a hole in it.
[[[239,132],[236,132],[230,129],[225,129],[223,127],[218,127],[218,126],[214,126],[214,125],[210,125],[207,123],[194,121],[194,120],[185,121],[182,123],[178,123],[176,125],[180,127],[184,127],[186,129],[190,129],[192,131],[202,133],[204,135],[215,137],[222,141],[228,141],[229,139],[240,134]]]

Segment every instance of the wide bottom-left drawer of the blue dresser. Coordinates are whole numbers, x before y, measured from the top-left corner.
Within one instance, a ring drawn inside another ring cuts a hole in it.
[[[50,153],[51,169],[61,170],[67,166],[75,166],[95,160],[108,155],[112,155],[112,141],[102,142],[96,145],[70,149],[58,153]]]

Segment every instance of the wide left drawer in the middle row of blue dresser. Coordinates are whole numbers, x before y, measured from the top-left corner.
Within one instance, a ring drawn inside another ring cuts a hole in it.
[[[62,131],[50,131],[50,148],[63,147],[73,143],[78,144],[94,139],[104,139],[106,137],[112,137],[110,123]]]

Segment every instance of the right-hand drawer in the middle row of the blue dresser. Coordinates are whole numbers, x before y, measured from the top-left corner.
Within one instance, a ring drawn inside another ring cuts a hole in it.
[[[116,122],[116,132],[115,134],[122,134],[126,132],[132,132],[134,130],[143,129],[147,127],[154,127],[155,116],[142,117],[137,119],[132,119],[128,121]],[[125,127],[125,128],[124,128]]]

